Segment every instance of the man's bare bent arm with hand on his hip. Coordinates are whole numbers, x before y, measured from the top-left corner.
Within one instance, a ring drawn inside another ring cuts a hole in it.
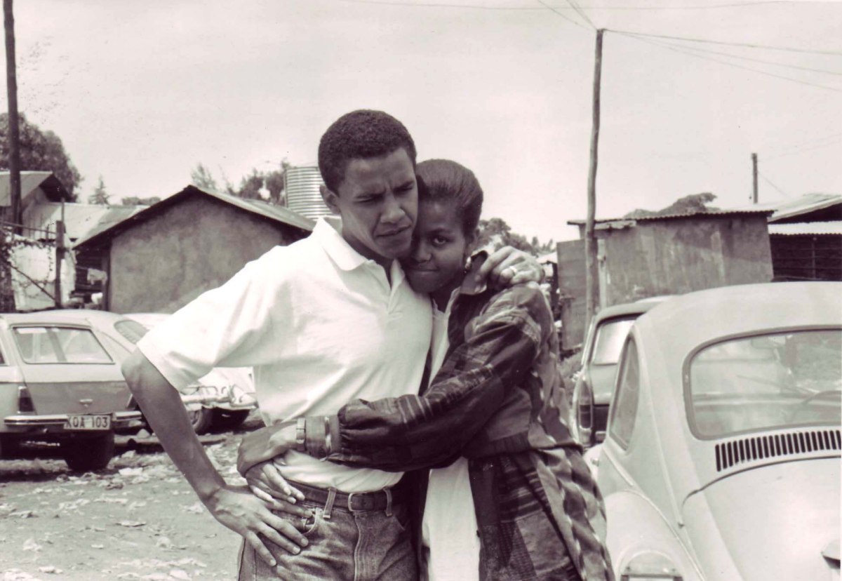
[[[272,514],[266,502],[246,488],[225,482],[190,425],[179,392],[140,350],[125,360],[122,370],[163,449],[216,520],[243,536],[272,566],[274,558],[260,536],[290,552],[299,552],[298,545],[306,546],[306,538],[290,522]]]

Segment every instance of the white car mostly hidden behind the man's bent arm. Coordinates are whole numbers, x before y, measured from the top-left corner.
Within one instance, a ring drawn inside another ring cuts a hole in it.
[[[130,313],[126,318],[139,327],[133,332],[123,329],[126,338],[136,343],[147,331],[165,321],[164,313]],[[211,428],[232,429],[242,424],[257,408],[254,380],[250,367],[215,367],[181,394],[190,421],[197,434]]]

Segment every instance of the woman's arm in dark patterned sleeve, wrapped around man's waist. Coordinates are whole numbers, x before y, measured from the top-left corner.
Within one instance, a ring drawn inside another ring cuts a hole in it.
[[[552,315],[540,290],[520,287],[505,296],[477,317],[466,343],[448,354],[423,396],[355,400],[336,416],[306,418],[304,444],[297,448],[330,461],[396,472],[452,458],[525,381],[546,333],[552,333]],[[243,440],[238,470],[245,474],[289,450],[295,432],[294,426],[274,429],[263,450]]]

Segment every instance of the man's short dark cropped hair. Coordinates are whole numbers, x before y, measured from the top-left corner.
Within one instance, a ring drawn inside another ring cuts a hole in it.
[[[354,159],[383,157],[400,148],[415,167],[415,142],[403,124],[383,111],[358,109],[333,121],[318,144],[318,168],[324,184],[338,194],[345,169]]]

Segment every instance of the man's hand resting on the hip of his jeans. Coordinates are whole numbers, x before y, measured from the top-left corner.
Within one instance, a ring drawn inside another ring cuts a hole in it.
[[[270,567],[277,563],[264,544],[264,539],[294,555],[301,552],[302,546],[307,546],[306,537],[301,535],[290,520],[273,514],[272,510],[281,504],[274,499],[267,503],[249,493],[245,487],[226,485],[216,490],[210,498],[203,498],[203,502],[216,520],[242,536]],[[309,514],[306,509],[295,508],[302,512],[290,514]]]

